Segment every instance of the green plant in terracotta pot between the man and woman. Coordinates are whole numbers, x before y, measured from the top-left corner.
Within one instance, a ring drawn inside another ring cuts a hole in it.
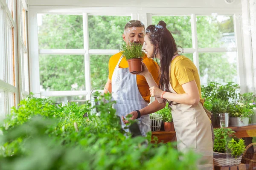
[[[168,108],[168,102],[165,108],[157,111],[156,113],[162,115],[164,131],[175,131],[172,121],[172,111]]]

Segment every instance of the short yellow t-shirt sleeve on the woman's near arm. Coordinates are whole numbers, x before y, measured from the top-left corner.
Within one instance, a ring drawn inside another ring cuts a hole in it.
[[[180,59],[174,66],[175,76],[180,85],[195,80],[195,65],[191,60]]]

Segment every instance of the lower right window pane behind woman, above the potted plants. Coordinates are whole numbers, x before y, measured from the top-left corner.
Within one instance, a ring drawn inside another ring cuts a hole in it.
[[[207,85],[211,81],[238,83],[236,63],[236,52],[200,53],[201,84]]]

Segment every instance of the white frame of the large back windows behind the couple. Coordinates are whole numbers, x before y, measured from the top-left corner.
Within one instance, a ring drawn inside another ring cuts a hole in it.
[[[100,12],[98,12],[100,11]],[[140,20],[145,24],[145,27],[151,24],[152,15],[160,16],[191,16],[192,28],[192,48],[185,48],[184,53],[193,53],[193,60],[199,69],[199,52],[226,52],[226,48],[198,48],[196,35],[196,16],[211,15],[217,13],[218,15],[232,15],[234,17],[234,27],[236,34],[236,48],[231,48],[228,51],[236,51],[238,59],[238,77],[241,88],[241,93],[246,92],[246,82],[244,79],[244,56],[242,48],[242,34],[241,34],[241,8],[151,8],[151,7],[69,7],[69,6],[29,6],[29,65],[31,66],[31,81],[30,88],[38,97],[41,96],[40,91],[40,75],[39,75],[39,54],[81,54],[84,55],[85,68],[90,68],[90,54],[113,55],[119,49],[90,49],[88,40],[87,18],[88,15],[116,15],[116,16],[131,16],[132,20]],[[83,31],[84,31],[84,49],[39,49],[38,50],[38,28],[37,28],[37,14],[78,14],[83,15]],[[85,71],[86,94],[89,99],[90,94],[90,69]],[[33,80],[33,81],[32,81]],[[73,92],[73,91],[72,91]],[[72,95],[67,93],[68,96]],[[59,93],[62,93],[60,91]],[[58,94],[55,94],[58,95]]]

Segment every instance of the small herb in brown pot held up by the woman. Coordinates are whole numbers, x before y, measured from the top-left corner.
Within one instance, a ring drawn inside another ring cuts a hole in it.
[[[145,54],[140,43],[123,44],[120,52],[128,62],[130,73],[142,72],[141,62]]]

